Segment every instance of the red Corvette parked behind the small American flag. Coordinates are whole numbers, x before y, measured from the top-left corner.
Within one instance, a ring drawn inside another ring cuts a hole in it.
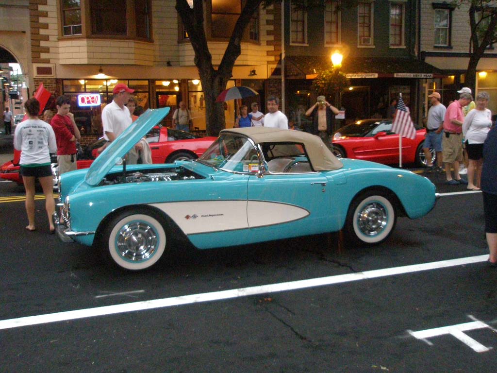
[[[402,163],[426,165],[423,152],[424,128],[416,128],[414,140],[402,138]],[[338,129],[332,140],[333,154],[386,165],[399,163],[399,135],[392,132],[390,119],[364,119]],[[432,159],[435,153],[430,149]]]

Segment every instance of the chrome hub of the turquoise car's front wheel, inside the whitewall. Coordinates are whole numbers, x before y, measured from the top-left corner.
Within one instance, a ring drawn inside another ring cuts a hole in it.
[[[132,262],[148,260],[158,245],[155,229],[144,222],[123,225],[116,236],[116,249],[119,255]]]

